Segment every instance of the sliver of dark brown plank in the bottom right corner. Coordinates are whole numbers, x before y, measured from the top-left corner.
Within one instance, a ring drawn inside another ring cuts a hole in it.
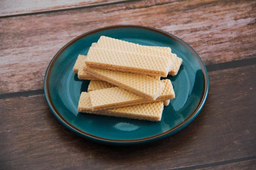
[[[215,167],[207,167],[198,170],[255,170],[256,169],[256,159],[235,162],[231,164],[224,164]]]

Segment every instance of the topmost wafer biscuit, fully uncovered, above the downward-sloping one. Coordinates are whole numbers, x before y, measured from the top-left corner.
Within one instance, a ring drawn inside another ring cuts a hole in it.
[[[91,47],[85,62],[96,68],[166,77],[171,58]]]

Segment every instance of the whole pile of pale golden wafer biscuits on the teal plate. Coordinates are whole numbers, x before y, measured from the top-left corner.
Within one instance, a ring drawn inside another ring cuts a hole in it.
[[[181,63],[169,47],[101,36],[73,68],[79,79],[91,80],[78,111],[160,121],[164,105],[175,98],[172,82],[160,77],[175,76]]]

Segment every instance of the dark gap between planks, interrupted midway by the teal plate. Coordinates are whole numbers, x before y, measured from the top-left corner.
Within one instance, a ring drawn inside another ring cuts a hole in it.
[[[212,65],[206,65],[206,68],[208,72],[212,72],[212,71],[225,70],[230,68],[245,67],[249,65],[256,65],[256,57],[230,61],[230,62],[222,62],[222,63],[212,64]],[[0,94],[0,99],[8,99],[8,98],[21,97],[21,96],[22,97],[35,96],[39,94],[44,94],[44,89]]]

